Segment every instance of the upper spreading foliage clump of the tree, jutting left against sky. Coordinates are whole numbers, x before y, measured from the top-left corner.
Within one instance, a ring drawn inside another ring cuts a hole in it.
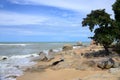
[[[95,26],[99,27],[109,27],[111,25],[112,20],[110,19],[110,15],[103,10],[95,10],[84,18],[82,22],[82,26],[89,26],[89,29],[93,31]]]

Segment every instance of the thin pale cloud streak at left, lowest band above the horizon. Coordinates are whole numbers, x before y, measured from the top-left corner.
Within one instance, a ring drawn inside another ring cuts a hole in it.
[[[7,35],[21,35],[21,36],[45,36],[45,35],[56,35],[56,33],[51,31],[36,31],[36,30],[29,30],[29,29],[21,29],[21,28],[0,28],[0,34],[7,34]]]

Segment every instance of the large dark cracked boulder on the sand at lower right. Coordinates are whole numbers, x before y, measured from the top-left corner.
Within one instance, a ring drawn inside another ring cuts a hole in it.
[[[112,58],[103,60],[99,62],[97,66],[101,69],[110,69],[114,66],[114,60]]]

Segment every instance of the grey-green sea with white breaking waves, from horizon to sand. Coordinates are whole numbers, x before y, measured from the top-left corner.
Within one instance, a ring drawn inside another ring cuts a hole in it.
[[[26,68],[36,64],[32,58],[38,57],[41,51],[46,55],[50,49],[58,52],[65,44],[76,45],[76,42],[1,42],[0,80],[16,80]]]

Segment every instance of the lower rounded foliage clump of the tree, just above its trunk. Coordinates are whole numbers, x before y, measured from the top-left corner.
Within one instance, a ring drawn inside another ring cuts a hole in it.
[[[111,35],[112,33],[111,27],[97,28],[92,39],[103,46],[109,46],[114,41],[114,35]]]

